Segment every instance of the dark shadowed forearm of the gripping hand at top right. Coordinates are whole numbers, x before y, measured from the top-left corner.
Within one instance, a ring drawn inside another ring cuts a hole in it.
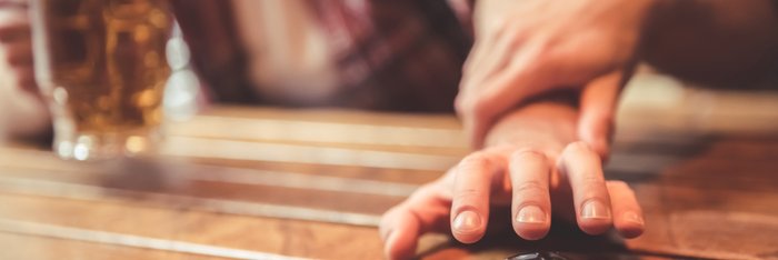
[[[644,58],[660,71],[711,86],[746,86],[778,68],[774,0],[666,1],[651,17]]]

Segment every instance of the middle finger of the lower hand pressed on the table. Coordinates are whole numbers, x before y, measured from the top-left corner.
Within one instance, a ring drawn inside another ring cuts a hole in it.
[[[532,150],[519,150],[510,157],[513,230],[527,240],[538,240],[551,227],[551,200],[548,158]]]

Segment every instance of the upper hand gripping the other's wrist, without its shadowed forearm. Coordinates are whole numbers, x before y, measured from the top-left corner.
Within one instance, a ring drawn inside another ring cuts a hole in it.
[[[578,137],[608,154],[617,96],[655,0],[482,0],[457,111],[476,148],[505,112],[553,90],[580,94]]]

